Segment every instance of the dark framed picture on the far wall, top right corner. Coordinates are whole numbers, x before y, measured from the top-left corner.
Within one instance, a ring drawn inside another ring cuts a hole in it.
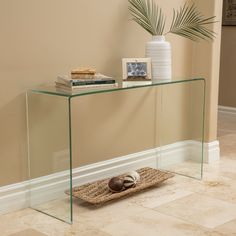
[[[223,0],[223,26],[236,26],[236,0]]]

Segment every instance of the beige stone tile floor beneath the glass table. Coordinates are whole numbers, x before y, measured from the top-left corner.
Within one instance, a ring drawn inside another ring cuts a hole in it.
[[[74,201],[74,224],[31,209],[0,216],[0,235],[236,235],[236,116],[219,114],[221,160],[198,181],[175,176],[159,188],[100,208]]]

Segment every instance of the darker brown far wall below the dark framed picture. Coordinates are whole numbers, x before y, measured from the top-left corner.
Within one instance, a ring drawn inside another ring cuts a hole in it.
[[[236,107],[236,28],[222,27],[219,105]]]

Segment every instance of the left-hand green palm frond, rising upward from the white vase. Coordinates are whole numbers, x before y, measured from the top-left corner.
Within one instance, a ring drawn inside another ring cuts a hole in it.
[[[151,0],[128,0],[133,20],[151,35],[162,35],[165,18],[162,10]]]

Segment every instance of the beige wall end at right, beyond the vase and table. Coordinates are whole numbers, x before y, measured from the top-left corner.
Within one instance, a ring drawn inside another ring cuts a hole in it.
[[[218,21],[212,25],[216,32],[214,42],[193,46],[193,76],[206,78],[205,141],[210,142],[217,137],[222,0],[197,0],[196,3],[202,12],[215,15]]]

